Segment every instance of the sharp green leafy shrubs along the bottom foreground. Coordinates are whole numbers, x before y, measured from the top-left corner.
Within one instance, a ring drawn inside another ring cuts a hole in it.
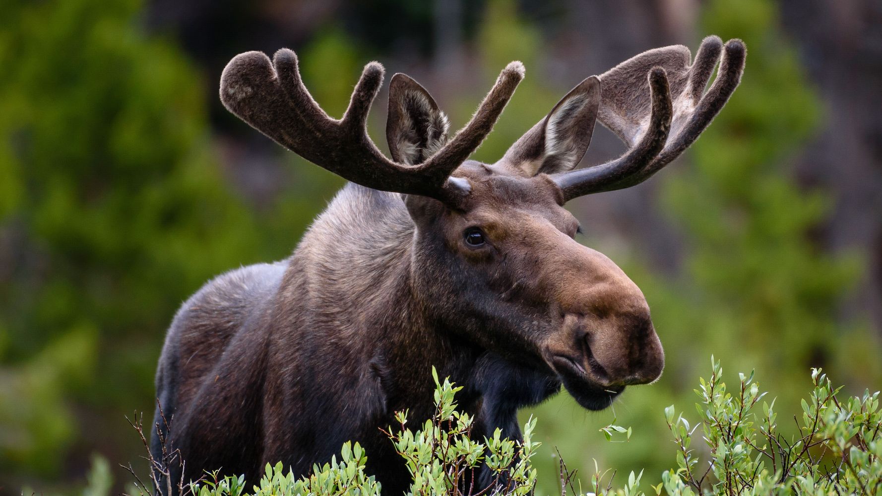
[[[720,362],[712,358],[709,380],[700,379],[699,423],[692,425],[674,406],[665,409],[670,431],[678,447],[676,468],[662,473],[662,482],[648,486],[649,494],[671,496],[698,494],[879,494],[882,493],[882,410],[876,392],[865,392],[840,400],[841,387],[820,369],[812,369],[813,390],[803,400],[803,414],[793,416],[799,426],[797,437],[778,432],[774,400],[766,401],[758,383],[738,374],[732,390],[722,381]],[[407,429],[407,412],[398,415],[400,430],[387,432],[407,461],[413,476],[410,494],[479,496],[483,494],[523,495],[534,489],[536,470],[530,457],[539,443],[531,440],[535,421],[524,426],[522,441],[501,437],[473,439],[474,418],[456,410],[454,395],[460,387],[450,380],[437,380],[436,415],[417,431]],[[761,411],[760,411],[761,410]],[[781,417],[781,421],[789,417]],[[699,431],[700,428],[700,431]],[[391,430],[390,430],[391,431]],[[605,434],[631,435],[630,429],[610,425]],[[700,435],[699,442],[692,441]],[[801,437],[799,437],[801,436]],[[266,465],[254,496],[380,494],[380,485],[365,473],[367,454],[355,443],[343,445],[340,460],[315,465],[309,477],[297,478],[281,463]],[[487,487],[467,484],[470,468],[486,464],[493,481]],[[595,464],[596,465],[596,464]],[[596,469],[583,492],[575,473],[560,466],[561,494],[646,495],[641,489],[643,473],[631,472],[624,487],[614,487],[615,470]],[[579,487],[577,490],[576,488]],[[146,488],[141,488],[142,494]],[[243,496],[244,477],[219,477],[215,472],[200,481],[183,485],[195,496]]]

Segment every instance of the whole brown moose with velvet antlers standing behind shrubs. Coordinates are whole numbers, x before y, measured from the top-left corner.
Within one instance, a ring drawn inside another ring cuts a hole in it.
[[[293,51],[235,56],[221,76],[226,108],[349,183],[288,259],[223,274],[177,312],[156,372],[153,457],[173,477],[222,469],[254,481],[266,462],[308,474],[353,440],[384,492],[400,494],[410,477],[380,429],[400,410],[431,417],[431,366],[463,387],[475,435],[512,439],[518,410],[562,386],[602,410],[657,380],[664,354],[646,298],[574,239],[564,204],[676,159],[729,100],[745,56],[742,41],[716,36],[694,60],[682,45],[648,50],[581,81],[492,164],[469,155],[523,79],[519,62],[450,139],[432,96],[395,74],[387,157],[366,128],[382,65],[364,67],[334,119]],[[597,120],[627,151],[577,169]]]

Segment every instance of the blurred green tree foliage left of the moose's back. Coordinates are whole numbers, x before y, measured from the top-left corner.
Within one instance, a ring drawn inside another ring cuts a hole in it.
[[[57,477],[91,447],[130,457],[123,413],[152,410],[176,307],[224,270],[286,256],[340,184],[298,168],[270,212],[247,204],[217,160],[203,81],[142,32],[140,8],[0,2],[0,480]]]

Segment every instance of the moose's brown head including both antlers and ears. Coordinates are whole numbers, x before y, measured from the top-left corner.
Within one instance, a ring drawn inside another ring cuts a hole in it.
[[[463,340],[553,373],[585,408],[662,373],[664,354],[640,289],[609,258],[576,242],[564,205],[639,184],[683,153],[733,93],[744,44],[706,38],[654,49],[579,83],[496,163],[468,160],[524,77],[512,62],[472,119],[448,120],[414,79],[395,74],[386,126],[391,160],[365,121],[384,70],[365,66],[346,114],[333,119],[303,86],[295,53],[236,56],[221,100],[283,147],[355,184],[401,193],[413,296]],[[720,62],[718,77],[707,87]],[[576,169],[600,120],[628,150]],[[368,236],[368,235],[366,235]],[[380,240],[380,243],[396,240]],[[393,309],[390,309],[390,312]]]

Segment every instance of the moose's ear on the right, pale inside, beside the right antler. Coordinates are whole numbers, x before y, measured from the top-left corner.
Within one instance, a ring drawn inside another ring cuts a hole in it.
[[[527,176],[573,169],[591,143],[600,102],[600,79],[583,80],[505,152],[503,161]]]

